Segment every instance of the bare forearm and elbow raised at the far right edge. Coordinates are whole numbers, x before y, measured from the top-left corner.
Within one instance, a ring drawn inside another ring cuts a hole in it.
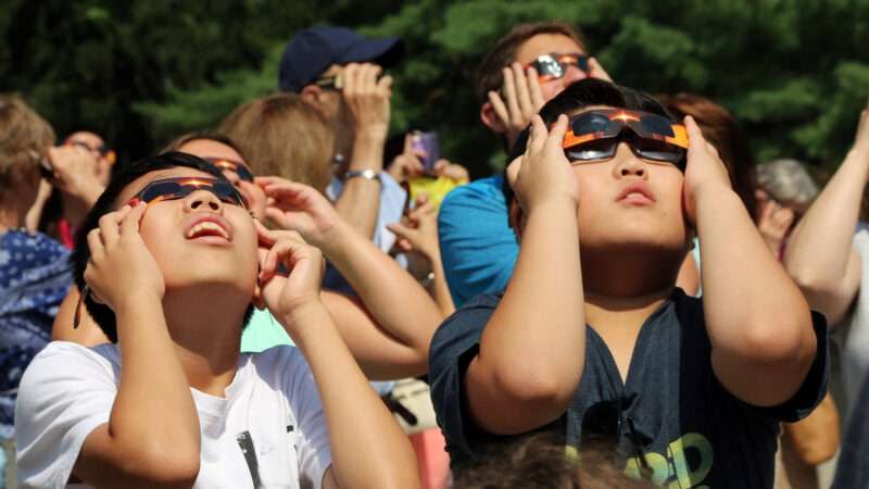
[[[869,154],[852,150],[788,241],[784,265],[808,291],[842,283],[867,177]]]

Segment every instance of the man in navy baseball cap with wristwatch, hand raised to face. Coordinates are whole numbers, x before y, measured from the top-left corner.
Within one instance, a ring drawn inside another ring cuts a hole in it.
[[[406,193],[383,168],[392,78],[383,68],[401,60],[399,38],[368,39],[344,27],[313,27],[290,39],[280,60],[284,91],[300,93],[330,122],[336,178],[327,193],[342,217],[388,251]]]

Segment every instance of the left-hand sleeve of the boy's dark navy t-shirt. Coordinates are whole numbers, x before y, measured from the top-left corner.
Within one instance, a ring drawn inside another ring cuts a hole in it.
[[[448,317],[434,333],[429,351],[429,384],[438,425],[453,457],[473,456],[473,447],[490,437],[478,428],[464,396],[464,379],[479,351],[480,336],[494,312],[498,299],[480,296]]]

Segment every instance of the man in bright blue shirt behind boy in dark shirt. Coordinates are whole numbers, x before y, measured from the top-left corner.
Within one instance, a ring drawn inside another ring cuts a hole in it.
[[[562,22],[520,24],[480,63],[480,121],[508,150],[546,101],[587,77],[609,79],[576,28]],[[502,186],[501,175],[482,178],[456,188],[441,204],[438,231],[456,306],[502,290],[513,273],[518,247],[503,218]]]

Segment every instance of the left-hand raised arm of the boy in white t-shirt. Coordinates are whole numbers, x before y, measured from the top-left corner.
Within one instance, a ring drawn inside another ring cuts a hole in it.
[[[95,487],[190,487],[199,474],[199,418],[163,315],[163,277],[139,235],[144,209],[106,214],[88,234],[85,279],[115,313],[124,365],[109,423],[73,469]]]

